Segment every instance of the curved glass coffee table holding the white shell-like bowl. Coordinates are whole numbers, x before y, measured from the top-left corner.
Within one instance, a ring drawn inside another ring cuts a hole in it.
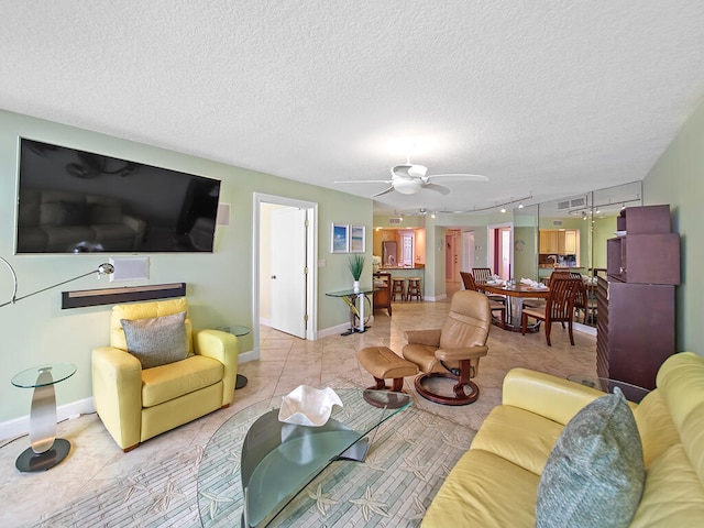
[[[239,411],[216,431],[198,470],[204,527],[264,527],[280,518],[330,463],[363,461],[376,428],[411,405],[403,393],[334,391],[343,408],[333,407],[322,427],[278,421],[277,396]]]

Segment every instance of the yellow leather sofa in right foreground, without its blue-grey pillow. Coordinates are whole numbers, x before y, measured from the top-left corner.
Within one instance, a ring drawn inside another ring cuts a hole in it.
[[[422,527],[535,527],[540,475],[564,425],[604,393],[525,369],[452,469]],[[657,388],[632,404],[645,487],[631,527],[704,526],[704,359],[669,358]]]

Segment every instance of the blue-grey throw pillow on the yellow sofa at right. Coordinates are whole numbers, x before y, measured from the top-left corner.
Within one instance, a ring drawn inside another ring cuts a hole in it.
[[[562,430],[540,476],[536,527],[626,527],[644,481],[636,420],[615,388]]]

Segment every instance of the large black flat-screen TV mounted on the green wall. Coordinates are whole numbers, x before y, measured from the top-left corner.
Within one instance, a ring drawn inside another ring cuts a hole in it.
[[[20,140],[16,253],[212,252],[220,180]]]

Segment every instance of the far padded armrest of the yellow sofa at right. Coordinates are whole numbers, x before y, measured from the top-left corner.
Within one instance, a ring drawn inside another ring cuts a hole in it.
[[[519,407],[565,425],[582,407],[604,393],[528,369],[513,369],[506,374],[503,404]]]

